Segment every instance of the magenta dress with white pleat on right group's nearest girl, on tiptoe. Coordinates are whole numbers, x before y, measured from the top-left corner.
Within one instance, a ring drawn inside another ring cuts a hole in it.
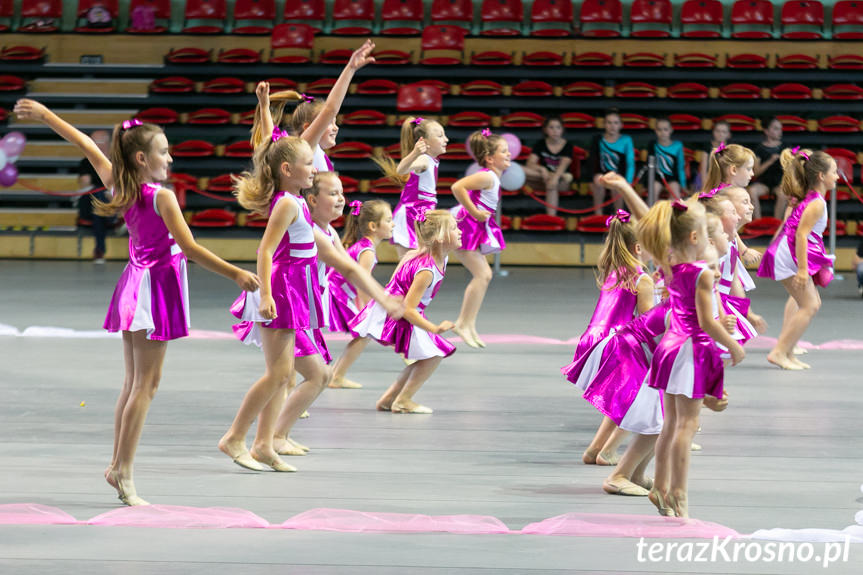
[[[649,385],[672,395],[722,398],[724,368],[721,350],[698,324],[695,291],[704,262],[677,264],[668,284],[671,322],[650,364]]]

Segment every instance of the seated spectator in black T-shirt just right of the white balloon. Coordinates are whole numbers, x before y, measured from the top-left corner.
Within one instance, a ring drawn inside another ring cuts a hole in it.
[[[559,192],[569,190],[572,185],[572,144],[563,137],[563,122],[557,116],[549,116],[542,123],[543,139],[531,148],[524,167],[527,184],[534,190],[545,190],[548,215],[557,215]]]

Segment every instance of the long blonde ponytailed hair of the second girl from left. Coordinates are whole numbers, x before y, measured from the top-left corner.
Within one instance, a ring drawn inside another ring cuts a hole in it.
[[[303,150],[311,154],[305,140],[285,136],[275,142],[270,139],[255,148],[252,171],[245,171],[234,178],[234,195],[240,205],[262,216],[270,214],[270,202],[279,187],[279,174],[283,163],[294,164]]]

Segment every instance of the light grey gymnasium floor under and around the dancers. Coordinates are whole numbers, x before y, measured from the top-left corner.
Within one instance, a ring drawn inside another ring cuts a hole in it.
[[[78,520],[121,506],[101,476],[111,455],[121,344],[81,337],[100,329],[121,269],[0,261],[0,505],[39,503]],[[378,279],[391,269],[382,266]],[[492,283],[480,317],[489,347],[459,344],[418,394],[434,415],[374,411],[403,364],[371,345],[352,372],[365,389],[326,391],[294,434],[312,453],[287,458],[298,473],[277,474],[242,470],[216,449],[263,358],[227,335],[235,286],[193,266],[192,324],[202,331],[169,346],[138,450],[139,494],[160,504],[242,508],[273,524],[313,508],[490,515],[511,530],[570,512],[653,517],[646,499],[604,494],[609,469],[580,461],[599,416],[559,368],[593,311],[592,271],[509,271]],[[805,340],[863,340],[863,300],[854,277],[845,275],[822,292],[824,305]],[[429,309],[432,319],[455,319],[465,283],[464,270],[452,266]],[[753,305],[776,337],[784,293],[772,282],[757,283]],[[25,332],[31,326],[77,330],[78,337]],[[812,350],[812,369],[793,373],[768,366],[766,347],[755,344],[726,374],[729,409],[702,419],[696,441],[704,449],[693,454],[690,475],[693,517],[741,534],[854,524],[863,509],[863,346]],[[343,345],[331,348],[338,353]],[[822,569],[800,562],[640,562],[637,542],[6,525],[0,573],[252,575],[284,565],[304,574],[859,573],[863,564],[863,544],[851,544],[847,562]]]

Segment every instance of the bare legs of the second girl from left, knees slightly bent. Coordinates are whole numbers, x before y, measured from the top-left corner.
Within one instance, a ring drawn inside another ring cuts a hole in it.
[[[219,449],[244,467],[246,465],[240,463],[240,460],[248,453],[246,434],[256,418],[259,419],[255,435],[257,458],[275,465],[287,465],[279,459],[272,443],[276,416],[284,401],[285,384],[294,369],[296,334],[292,329],[268,328],[262,328],[261,334],[266,371],[246,393],[231,428],[219,440]],[[253,465],[249,467],[255,468]],[[274,465],[271,467],[275,469]]]

